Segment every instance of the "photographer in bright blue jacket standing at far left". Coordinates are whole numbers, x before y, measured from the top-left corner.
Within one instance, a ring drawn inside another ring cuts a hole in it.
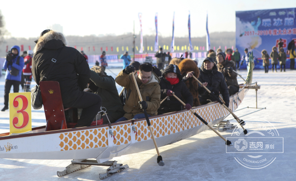
[[[12,46],[11,51],[6,55],[3,68],[6,70],[5,86],[4,86],[4,107],[1,111],[8,109],[9,92],[13,85],[13,92],[19,91],[22,79],[22,70],[24,68],[24,58],[19,56],[20,47]]]

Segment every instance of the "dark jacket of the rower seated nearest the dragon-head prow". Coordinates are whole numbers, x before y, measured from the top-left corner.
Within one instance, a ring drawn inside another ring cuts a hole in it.
[[[228,72],[226,70],[228,67],[232,67],[233,70],[236,71],[235,62],[232,60],[230,61],[224,60],[222,64],[220,63],[217,64],[218,71],[224,75],[227,86],[235,86],[239,88],[237,83],[237,74],[234,73],[233,71]]]

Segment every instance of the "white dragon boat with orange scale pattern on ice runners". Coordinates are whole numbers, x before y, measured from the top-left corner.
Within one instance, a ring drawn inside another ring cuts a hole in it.
[[[249,90],[247,86],[252,84],[253,61],[249,64],[247,83],[230,96],[229,109],[232,111],[241,104]],[[59,111],[59,108],[54,109]],[[218,101],[192,110],[211,126],[219,124],[230,114]],[[46,114],[45,108],[44,111]],[[208,129],[189,110],[152,116],[149,120],[158,147]],[[128,165],[110,161],[113,157],[155,148],[145,119],[72,129],[64,129],[64,124],[62,122],[61,129],[54,131],[46,131],[46,126],[41,126],[25,134],[0,134],[0,158],[73,159],[66,170],[57,172],[60,177],[91,165],[110,166],[105,174],[100,174],[100,179],[105,179],[128,168]]]

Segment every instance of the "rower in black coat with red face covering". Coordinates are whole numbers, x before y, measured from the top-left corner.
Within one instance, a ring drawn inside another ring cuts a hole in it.
[[[187,110],[191,109],[193,96],[182,79],[183,77],[177,65],[170,64],[164,69],[159,85],[161,93],[160,100],[164,98],[166,100],[160,104],[157,110],[158,115],[184,109],[183,104],[172,95],[172,92],[175,92],[175,95],[181,100],[184,98],[186,102],[185,108]]]

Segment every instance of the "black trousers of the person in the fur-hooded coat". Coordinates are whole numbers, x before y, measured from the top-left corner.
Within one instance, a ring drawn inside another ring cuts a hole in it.
[[[70,107],[82,108],[81,116],[76,128],[90,126],[97,113],[101,110],[102,98],[100,95],[83,92],[83,96]]]

